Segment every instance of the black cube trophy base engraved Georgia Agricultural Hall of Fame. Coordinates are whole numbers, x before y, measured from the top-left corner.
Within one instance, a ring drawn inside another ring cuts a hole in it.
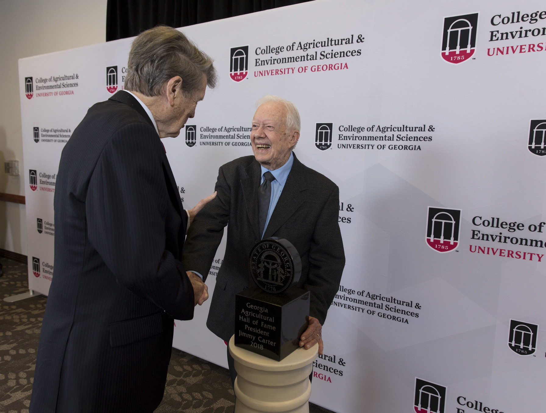
[[[310,292],[269,294],[251,287],[235,296],[235,345],[281,361],[299,347],[307,328]]]

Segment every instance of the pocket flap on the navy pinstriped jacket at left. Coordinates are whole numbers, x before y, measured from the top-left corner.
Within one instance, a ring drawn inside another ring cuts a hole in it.
[[[110,324],[110,346],[136,343],[163,332],[161,312]]]

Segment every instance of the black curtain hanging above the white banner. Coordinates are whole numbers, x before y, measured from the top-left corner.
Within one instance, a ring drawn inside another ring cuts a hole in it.
[[[108,0],[106,42],[155,27],[182,27],[310,0]]]

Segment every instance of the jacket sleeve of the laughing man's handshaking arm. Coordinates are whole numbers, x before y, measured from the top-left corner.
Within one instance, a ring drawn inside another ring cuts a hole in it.
[[[212,199],[195,215],[184,244],[183,263],[185,268],[199,272],[203,275],[203,281],[209,275],[212,260],[222,241],[224,227],[229,220],[231,190],[222,167],[218,170],[218,179],[214,189],[217,191],[216,198]]]

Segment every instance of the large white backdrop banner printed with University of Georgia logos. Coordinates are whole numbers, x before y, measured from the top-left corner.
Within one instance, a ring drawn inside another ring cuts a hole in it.
[[[544,3],[325,0],[183,31],[220,75],[180,136],[164,139],[186,206],[213,191],[219,166],[252,154],[253,104],[266,94],[296,104],[298,158],[340,187],[347,264],[312,402],[541,411]],[[20,60],[33,290],[47,294],[54,276],[61,150],[87,108],[122,88],[131,41]],[[225,366],[207,305],[176,322],[174,346]]]

